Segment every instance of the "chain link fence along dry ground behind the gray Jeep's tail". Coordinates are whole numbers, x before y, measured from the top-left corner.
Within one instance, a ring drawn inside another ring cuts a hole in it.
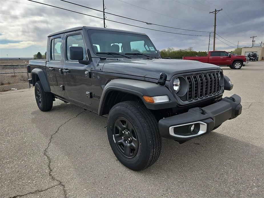
[[[30,88],[28,64],[0,65],[0,92]]]

